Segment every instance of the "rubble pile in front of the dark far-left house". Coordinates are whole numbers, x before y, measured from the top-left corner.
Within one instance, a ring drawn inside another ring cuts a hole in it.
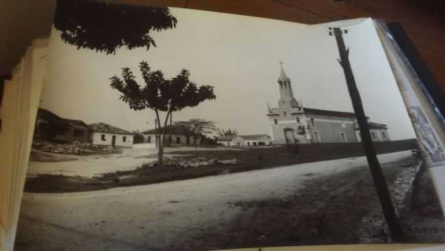
[[[32,147],[43,152],[52,152],[55,154],[117,154],[120,150],[111,145],[104,147],[92,145],[91,143],[50,143],[33,142]]]

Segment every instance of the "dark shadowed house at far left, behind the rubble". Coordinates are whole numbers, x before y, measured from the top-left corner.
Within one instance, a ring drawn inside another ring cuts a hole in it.
[[[34,134],[54,141],[90,142],[90,128],[84,121],[64,119],[42,108],[38,108]]]

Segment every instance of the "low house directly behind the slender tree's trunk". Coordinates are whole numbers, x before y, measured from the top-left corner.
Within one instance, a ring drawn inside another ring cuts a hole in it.
[[[157,147],[159,134],[164,128],[150,129],[142,132],[144,136],[144,143],[154,143],[153,147]],[[166,146],[181,146],[181,145],[201,145],[203,135],[194,134],[188,128],[180,125],[168,125],[166,128]]]

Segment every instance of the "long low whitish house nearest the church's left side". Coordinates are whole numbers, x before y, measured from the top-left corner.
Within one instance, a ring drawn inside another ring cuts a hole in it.
[[[227,147],[249,147],[257,145],[271,145],[272,139],[266,134],[252,134],[252,135],[223,135],[218,136],[216,141],[221,145]]]

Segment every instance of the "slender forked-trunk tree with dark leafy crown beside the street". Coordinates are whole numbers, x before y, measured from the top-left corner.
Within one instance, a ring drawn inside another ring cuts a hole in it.
[[[164,143],[168,119],[172,112],[179,112],[186,107],[198,106],[207,99],[216,99],[214,87],[209,85],[196,86],[191,82],[190,72],[183,69],[176,77],[167,80],[162,71],[151,71],[145,61],[139,64],[144,86],[136,82],[133,72],[127,67],[122,69],[122,78],[110,77],[110,86],[120,92],[120,100],[132,110],[151,109],[157,117],[159,132],[158,166],[162,166]],[[164,126],[161,126],[160,112],[166,112]]]

